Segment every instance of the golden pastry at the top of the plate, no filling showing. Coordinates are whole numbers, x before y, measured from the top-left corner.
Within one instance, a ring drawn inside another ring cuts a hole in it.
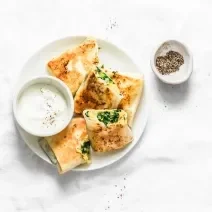
[[[87,38],[79,46],[49,61],[47,68],[53,76],[66,83],[75,95],[86,75],[98,62],[98,44],[95,39]]]

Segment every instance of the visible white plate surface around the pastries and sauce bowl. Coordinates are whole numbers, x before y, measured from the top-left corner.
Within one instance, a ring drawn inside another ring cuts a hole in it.
[[[68,50],[69,48],[80,44],[83,40],[85,40],[85,38],[85,36],[66,37],[60,40],[56,40],[40,49],[32,57],[30,57],[27,63],[24,65],[15,89],[21,86],[25,81],[31,79],[32,77],[48,75],[48,72],[46,70],[47,62],[53,57],[58,56],[60,53]],[[103,64],[106,65],[106,67],[121,72],[140,72],[139,68],[134,64],[132,59],[117,46],[101,39],[97,39],[97,42],[101,47],[99,51],[100,60]],[[143,96],[141,98],[141,102],[139,104],[134,124],[132,127],[134,135],[133,142],[126,148],[112,153],[99,154],[92,152],[92,164],[79,166],[74,170],[87,171],[99,169],[108,166],[122,158],[136,145],[136,143],[138,143],[144,131],[147,122],[147,116],[148,104],[147,89],[145,84]],[[39,137],[33,136],[25,132],[18,124],[17,129],[22,139],[26,142],[29,148],[43,160],[50,163],[48,157],[45,155],[45,153],[42,151],[38,144]]]

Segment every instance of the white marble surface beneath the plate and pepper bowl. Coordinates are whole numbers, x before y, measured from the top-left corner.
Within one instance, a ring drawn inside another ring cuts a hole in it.
[[[209,0],[1,0],[0,211],[211,212],[211,9]],[[12,92],[31,54],[79,34],[127,50],[146,75],[152,107],[140,143],[123,160],[59,176],[21,140]],[[151,51],[166,39],[193,53],[193,74],[182,85],[165,85],[151,71]]]

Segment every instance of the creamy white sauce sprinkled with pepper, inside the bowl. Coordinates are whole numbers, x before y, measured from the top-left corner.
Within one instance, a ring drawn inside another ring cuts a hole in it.
[[[33,131],[51,132],[61,128],[68,115],[62,93],[52,85],[34,84],[20,96],[17,104],[19,120]]]

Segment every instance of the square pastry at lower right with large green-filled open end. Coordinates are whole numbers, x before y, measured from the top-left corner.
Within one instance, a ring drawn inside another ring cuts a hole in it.
[[[121,149],[133,140],[124,110],[85,110],[83,116],[94,151]]]

